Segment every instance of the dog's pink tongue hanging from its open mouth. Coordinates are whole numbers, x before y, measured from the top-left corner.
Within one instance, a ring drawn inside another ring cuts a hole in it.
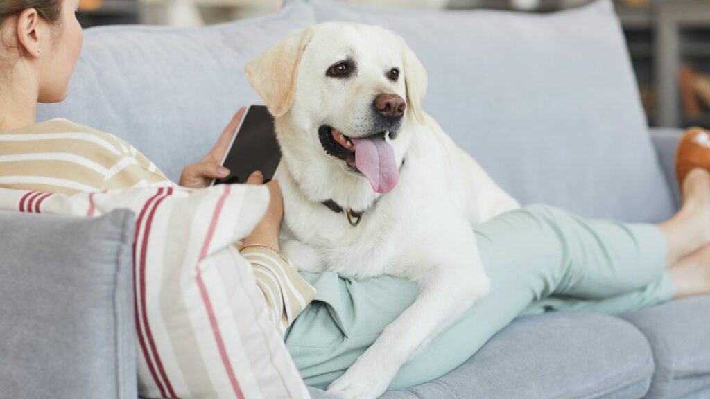
[[[384,194],[397,184],[399,169],[395,165],[395,151],[383,136],[350,140],[355,145],[355,165],[370,180],[372,189]]]

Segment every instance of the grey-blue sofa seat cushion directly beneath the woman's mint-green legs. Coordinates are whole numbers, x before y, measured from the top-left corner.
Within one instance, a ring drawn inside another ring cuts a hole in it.
[[[623,319],[551,313],[518,319],[454,371],[381,398],[641,398],[653,366],[648,341]]]

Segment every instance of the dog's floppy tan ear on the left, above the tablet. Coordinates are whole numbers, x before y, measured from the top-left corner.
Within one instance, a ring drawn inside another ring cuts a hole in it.
[[[275,118],[291,108],[298,64],[311,37],[310,28],[293,31],[244,68],[249,83]]]

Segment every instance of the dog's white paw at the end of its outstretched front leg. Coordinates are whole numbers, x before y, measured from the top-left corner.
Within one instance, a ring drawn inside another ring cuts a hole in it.
[[[327,391],[343,399],[377,399],[385,393],[396,371],[392,373],[385,367],[369,367],[366,362],[356,361]]]

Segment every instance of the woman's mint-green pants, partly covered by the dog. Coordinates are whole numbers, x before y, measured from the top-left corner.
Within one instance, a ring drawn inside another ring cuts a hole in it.
[[[666,244],[650,224],[577,217],[533,205],[474,229],[491,292],[405,364],[389,389],[452,371],[515,317],[584,310],[612,315],[670,300]],[[325,388],[417,297],[409,280],[302,274],[317,290],[285,343],[310,386]]]

